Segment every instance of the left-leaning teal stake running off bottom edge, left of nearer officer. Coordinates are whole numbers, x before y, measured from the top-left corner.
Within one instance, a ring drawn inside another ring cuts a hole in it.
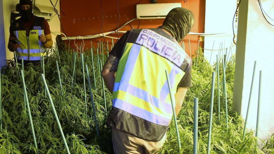
[[[45,80],[44,74],[41,74],[41,77],[42,77],[42,80],[43,80],[43,82],[44,82],[44,85],[45,85],[45,88],[46,88],[46,91],[47,91],[47,94],[48,94],[48,98],[49,98],[49,100],[50,100],[50,105],[51,105],[52,111],[53,111],[53,113],[54,113],[54,117],[55,117],[55,119],[56,119],[56,123],[57,123],[57,125],[58,125],[59,130],[60,130],[61,136],[62,136],[62,138],[63,138],[63,141],[64,141],[64,144],[65,144],[66,150],[67,150],[68,154],[70,154],[70,152],[69,152],[69,147],[68,147],[66,138],[65,138],[65,136],[64,136],[64,133],[63,133],[63,130],[62,130],[62,127],[61,127],[61,124],[60,124],[58,115],[57,115],[57,113],[56,113],[56,110],[55,110],[53,101],[52,101],[52,99],[51,99],[50,91],[49,91],[47,82],[46,82],[46,80]]]

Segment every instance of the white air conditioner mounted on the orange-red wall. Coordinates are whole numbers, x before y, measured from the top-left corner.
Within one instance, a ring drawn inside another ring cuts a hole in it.
[[[181,3],[137,4],[137,19],[164,19],[175,7],[182,7],[182,5]]]

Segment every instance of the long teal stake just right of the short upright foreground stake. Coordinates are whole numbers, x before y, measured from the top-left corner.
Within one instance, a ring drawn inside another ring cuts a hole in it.
[[[210,95],[210,113],[209,113],[209,129],[208,129],[208,140],[207,140],[207,154],[210,154],[212,114],[213,114],[213,101],[214,101],[214,86],[215,86],[215,72],[212,72],[211,95]]]

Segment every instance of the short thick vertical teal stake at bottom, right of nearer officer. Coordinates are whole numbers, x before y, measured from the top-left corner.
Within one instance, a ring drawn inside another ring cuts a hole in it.
[[[197,145],[198,145],[198,98],[194,98],[194,145],[193,145],[193,154],[197,154]]]

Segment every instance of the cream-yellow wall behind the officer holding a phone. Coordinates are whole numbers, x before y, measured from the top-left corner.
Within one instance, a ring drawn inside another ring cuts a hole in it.
[[[56,0],[52,0],[52,2],[55,4]],[[15,6],[17,3],[19,3],[19,0],[3,0],[3,17],[4,17],[5,46],[6,46],[7,59],[14,58],[13,53],[8,50],[7,44],[9,39],[10,16],[11,16],[11,12],[15,10]],[[39,3],[40,5],[51,6],[50,1],[48,0],[36,0],[36,3]],[[60,10],[59,8],[60,8],[60,5],[58,2],[56,5],[56,9]],[[60,31],[60,21],[57,15],[51,19],[51,21],[49,22],[49,25],[50,25],[51,31]],[[55,42],[55,38],[56,38],[56,35],[58,35],[58,33],[52,32],[51,35],[52,35],[52,40]]]

